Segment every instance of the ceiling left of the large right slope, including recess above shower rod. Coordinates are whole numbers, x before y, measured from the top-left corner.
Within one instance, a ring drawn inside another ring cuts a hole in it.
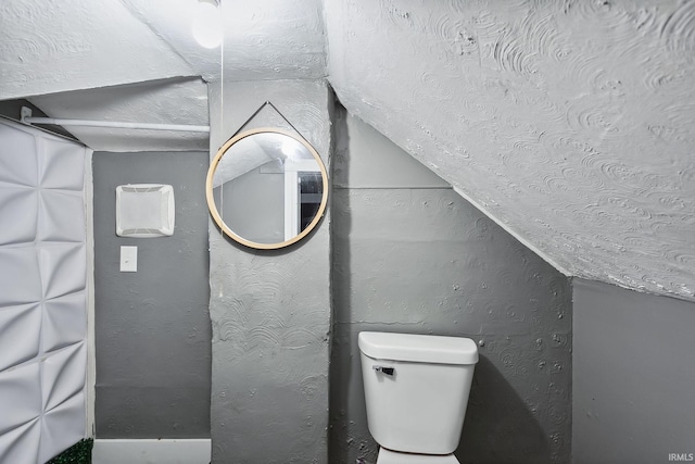
[[[205,80],[326,76],[320,0],[220,2],[216,49],[191,34],[198,4],[2,0],[0,100],[26,98],[60,118],[207,125]],[[204,134],[68,129],[94,150],[207,149]]]

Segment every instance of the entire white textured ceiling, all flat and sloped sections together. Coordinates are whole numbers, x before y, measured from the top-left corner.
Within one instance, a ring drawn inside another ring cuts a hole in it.
[[[191,38],[195,4],[2,0],[0,100],[202,125],[204,80],[328,73],[350,112],[560,271],[695,301],[694,2],[223,0],[213,50]]]

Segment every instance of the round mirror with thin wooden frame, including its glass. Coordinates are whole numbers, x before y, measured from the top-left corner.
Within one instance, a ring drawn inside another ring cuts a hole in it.
[[[328,175],[316,150],[270,128],[227,141],[210,165],[205,187],[219,228],[239,243],[265,250],[305,237],[328,200]]]

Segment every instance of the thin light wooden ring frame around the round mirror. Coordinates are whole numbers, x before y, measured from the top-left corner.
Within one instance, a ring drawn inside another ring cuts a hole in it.
[[[321,202],[318,206],[318,210],[316,211],[316,215],[314,216],[312,222],[303,230],[301,230],[296,236],[277,243],[255,242],[236,234],[224,222],[219,211],[217,211],[217,205],[215,204],[215,199],[213,196],[213,176],[215,175],[215,171],[217,170],[217,166],[219,165],[222,159],[225,156],[227,151],[235,143],[237,143],[238,141],[247,137],[250,137],[256,134],[267,134],[267,133],[288,136],[296,140],[298,142],[300,142],[302,146],[304,146],[308,150],[309,153],[312,153],[321,173],[321,186],[323,186]],[[285,248],[292,243],[296,243],[298,241],[306,237],[314,229],[314,227],[316,227],[316,225],[319,223],[319,221],[324,216],[324,213],[326,212],[326,205],[328,204],[328,173],[326,172],[326,166],[324,165],[321,158],[318,155],[318,152],[305,139],[296,137],[294,134],[289,133],[287,130],[277,129],[277,128],[265,127],[265,128],[258,128],[258,129],[251,129],[251,130],[245,130],[236,135],[219,148],[219,150],[217,151],[217,154],[215,154],[215,158],[210,164],[210,170],[207,171],[207,178],[205,180],[205,197],[207,199],[207,209],[210,210],[210,214],[213,216],[213,220],[215,221],[217,226],[222,229],[222,231],[225,233],[227,236],[229,236],[231,239],[233,239],[235,241],[245,247],[253,248],[256,250],[277,250],[279,248]]]

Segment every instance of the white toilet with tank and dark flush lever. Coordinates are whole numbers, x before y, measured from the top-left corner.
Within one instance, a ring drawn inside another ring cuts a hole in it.
[[[468,338],[363,331],[358,337],[377,464],[458,464],[478,347]]]

